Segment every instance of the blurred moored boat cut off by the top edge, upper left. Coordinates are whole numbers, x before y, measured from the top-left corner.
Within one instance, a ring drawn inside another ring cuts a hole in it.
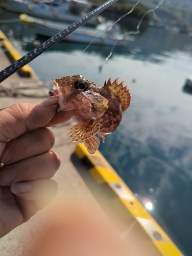
[[[86,0],[54,0],[54,1],[30,1],[30,0],[6,0],[5,8],[16,13],[26,13],[39,18],[55,20],[58,22],[76,22],[90,9]],[[100,23],[98,17],[90,19],[87,24],[96,26]]]

